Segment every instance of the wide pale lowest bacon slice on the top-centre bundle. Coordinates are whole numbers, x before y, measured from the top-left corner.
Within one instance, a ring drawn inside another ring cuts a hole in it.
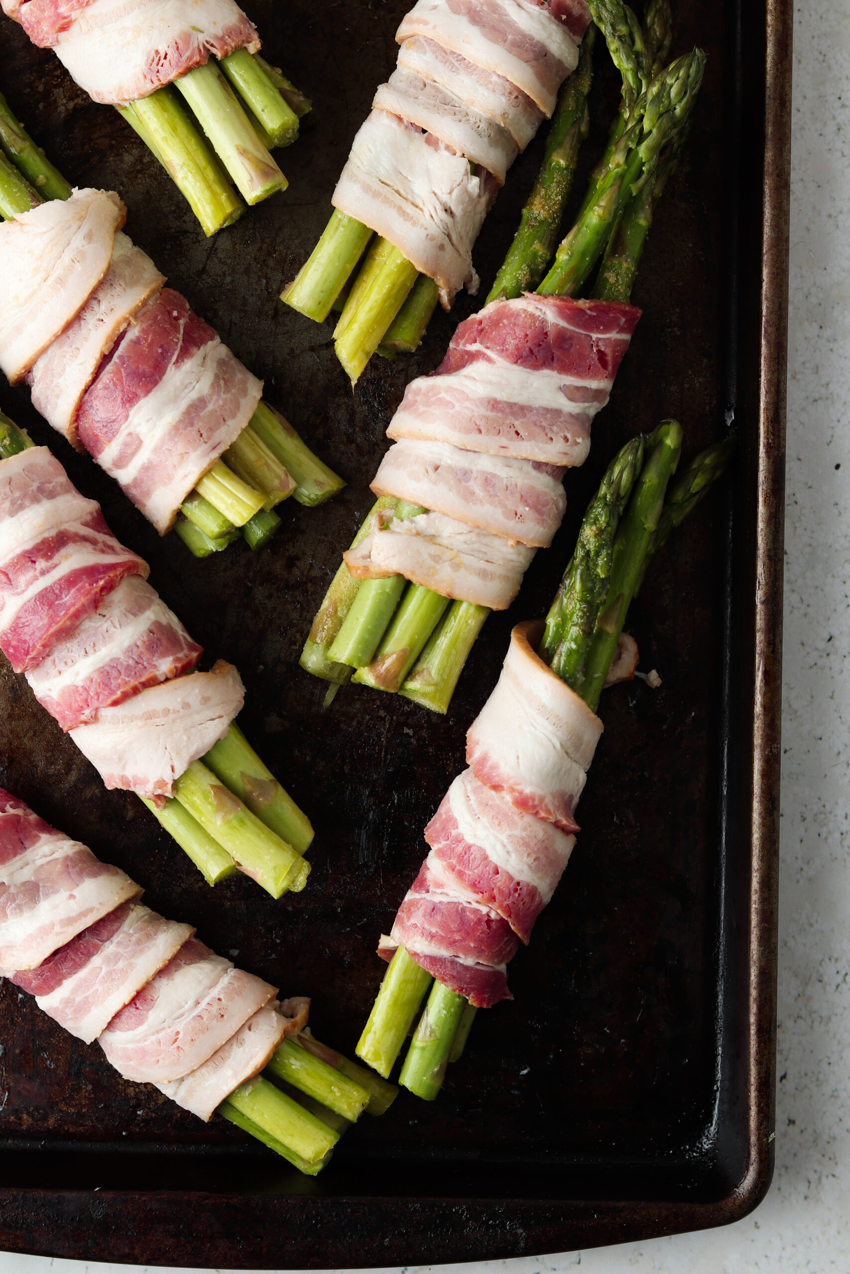
[[[394,243],[432,278],[449,310],[474,279],[473,243],[498,186],[415,125],[372,111],[352,144],[331,203]]]

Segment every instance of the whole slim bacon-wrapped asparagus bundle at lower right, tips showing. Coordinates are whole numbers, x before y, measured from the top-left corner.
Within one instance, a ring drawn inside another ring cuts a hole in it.
[[[469,768],[426,828],[431,852],[381,938],[390,967],[357,1054],[389,1077],[431,987],[400,1075],[426,1099],[460,1056],[474,1010],[511,999],[507,963],[529,943],[575,846],[576,806],[603,731],[599,696],[635,675],[637,646],[623,632],[630,603],[649,558],[724,471],[734,438],[668,487],[681,445],[669,420],[614,459],[545,624],[511,634],[496,689],[466,735]]]

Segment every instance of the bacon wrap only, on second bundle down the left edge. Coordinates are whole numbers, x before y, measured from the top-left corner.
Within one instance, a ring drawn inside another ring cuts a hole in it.
[[[263,383],[163,289],[124,217],[117,195],[76,190],[0,224],[0,367],[164,534]]]

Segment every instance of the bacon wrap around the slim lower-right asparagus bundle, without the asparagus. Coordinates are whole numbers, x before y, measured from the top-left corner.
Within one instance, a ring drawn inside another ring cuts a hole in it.
[[[575,810],[603,725],[537,655],[522,623],[466,735],[465,769],[426,828],[431,852],[378,953],[404,947],[470,1004],[511,999],[507,962],[526,943],[575,845]],[[631,676],[632,638],[621,676]],[[633,648],[632,648],[633,647]]]

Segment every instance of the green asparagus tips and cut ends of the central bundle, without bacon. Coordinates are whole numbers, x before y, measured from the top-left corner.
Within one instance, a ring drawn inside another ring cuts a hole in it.
[[[531,289],[543,296],[589,294],[628,302],[655,205],[682,155],[705,55],[693,50],[664,66],[672,39],[668,0],[650,0],[642,25],[621,0],[591,0],[590,8],[623,76],[608,147],[556,251],[587,132],[593,41],[585,38],[580,65],[561,90],[539,177],[488,303]],[[380,497],[352,549],[384,520],[423,512]],[[361,582],[343,563],[313,619],[301,666],[331,683],[326,705],[353,678],[446,712],[488,614],[487,606],[450,601],[403,576]]]

